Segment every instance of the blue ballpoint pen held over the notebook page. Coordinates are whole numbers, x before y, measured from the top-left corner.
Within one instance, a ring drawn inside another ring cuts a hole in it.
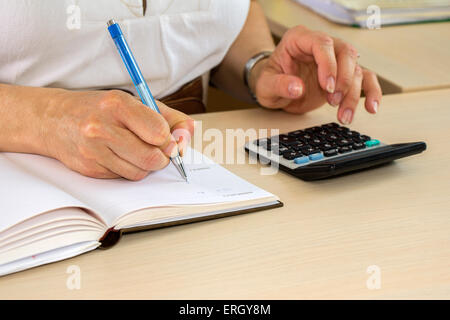
[[[107,25],[108,31],[111,34],[111,37],[116,44],[117,50],[119,50],[120,56],[125,63],[125,66],[127,67],[128,73],[133,80],[134,86],[136,87],[136,90],[141,97],[142,103],[148,106],[153,111],[161,113],[158,109],[158,106],[156,105],[152,93],[150,92],[150,89],[148,88],[147,82],[145,81],[142,72],[139,69],[137,62],[134,59],[133,53],[131,52],[128,43],[122,34],[122,30],[120,29],[119,24],[116,23],[114,19],[111,19],[108,21]],[[170,160],[175,165],[184,180],[188,181],[186,169],[184,168],[183,160],[181,160],[179,153],[177,153],[176,156],[170,158]]]

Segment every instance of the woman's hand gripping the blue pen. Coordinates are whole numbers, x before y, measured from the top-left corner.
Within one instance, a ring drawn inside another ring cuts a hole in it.
[[[167,166],[193,134],[187,115],[157,102],[162,115],[122,91],[62,91],[42,115],[46,155],[94,178],[140,180]],[[45,154],[44,153],[44,154]]]

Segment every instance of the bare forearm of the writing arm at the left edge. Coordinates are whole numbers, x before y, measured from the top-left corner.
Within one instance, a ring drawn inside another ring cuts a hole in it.
[[[48,155],[43,117],[60,91],[0,84],[0,152]]]

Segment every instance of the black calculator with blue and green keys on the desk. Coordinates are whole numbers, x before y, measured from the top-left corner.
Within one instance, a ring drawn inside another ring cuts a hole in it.
[[[245,150],[302,180],[318,180],[420,153],[425,142],[385,144],[337,123],[250,141]]]

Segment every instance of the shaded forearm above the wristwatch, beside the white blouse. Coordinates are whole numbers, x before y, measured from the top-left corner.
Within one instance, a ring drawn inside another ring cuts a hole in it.
[[[224,60],[216,69],[211,79],[212,83],[239,99],[250,101],[251,97],[243,77],[245,64],[255,54],[261,51],[273,51],[274,48],[275,44],[263,9],[257,1],[252,0],[247,21]],[[260,62],[255,66],[252,78],[255,78],[254,75],[258,73],[260,65],[263,63]],[[250,80],[251,85],[252,82],[253,79]]]

